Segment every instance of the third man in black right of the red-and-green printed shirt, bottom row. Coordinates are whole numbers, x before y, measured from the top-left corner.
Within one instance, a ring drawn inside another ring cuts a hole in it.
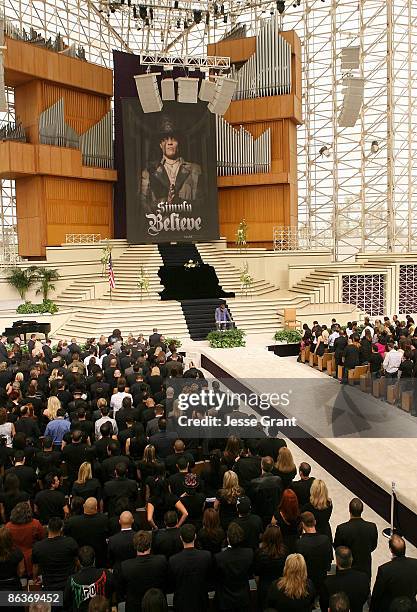
[[[227,530],[228,548],[215,555],[217,573],[216,598],[219,610],[249,612],[251,607],[249,576],[253,550],[240,548],[243,529],[230,523]]]

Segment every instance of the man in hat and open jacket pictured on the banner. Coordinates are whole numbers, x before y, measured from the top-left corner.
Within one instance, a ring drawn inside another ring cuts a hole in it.
[[[174,121],[163,116],[159,133],[162,158],[142,172],[141,202],[145,212],[155,212],[160,202],[167,205],[165,212],[180,212],[187,210],[184,203],[192,205],[201,199],[201,167],[181,157],[180,137]]]

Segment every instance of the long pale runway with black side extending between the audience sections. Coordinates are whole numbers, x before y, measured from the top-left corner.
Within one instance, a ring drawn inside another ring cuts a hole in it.
[[[410,482],[417,473],[415,417],[259,344],[198,351],[201,366],[234,392],[288,391],[288,406],[256,408],[257,414],[295,417],[296,426],[283,433],[386,520],[395,481],[399,526],[417,543],[417,489]]]

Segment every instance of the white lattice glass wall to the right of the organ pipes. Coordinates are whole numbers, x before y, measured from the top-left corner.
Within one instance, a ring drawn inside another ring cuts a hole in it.
[[[303,45],[300,227],[317,246],[331,238],[336,260],[417,250],[417,6],[304,0],[298,14],[285,15],[284,29],[292,27]],[[365,92],[356,125],[341,128],[340,55],[348,46],[360,47]],[[322,146],[330,157],[319,155]]]

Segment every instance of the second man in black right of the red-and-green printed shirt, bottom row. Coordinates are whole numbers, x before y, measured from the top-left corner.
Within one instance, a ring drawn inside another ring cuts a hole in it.
[[[209,607],[211,554],[208,550],[195,548],[194,525],[183,525],[180,534],[184,550],[169,560],[170,578],[174,588],[174,611],[205,612]]]

